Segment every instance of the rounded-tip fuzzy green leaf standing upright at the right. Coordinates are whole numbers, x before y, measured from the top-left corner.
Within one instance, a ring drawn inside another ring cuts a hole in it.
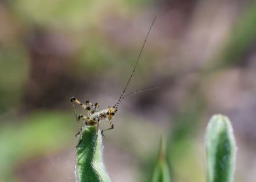
[[[214,115],[206,131],[207,182],[231,182],[234,178],[236,144],[227,116]]]

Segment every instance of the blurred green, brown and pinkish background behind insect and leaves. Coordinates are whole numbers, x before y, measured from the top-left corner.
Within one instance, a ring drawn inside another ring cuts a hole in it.
[[[172,181],[204,181],[204,133],[217,113],[234,127],[235,181],[255,181],[249,0],[0,1],[0,181],[75,181],[70,98],[114,105],[154,16],[127,92],[161,87],[125,99],[105,133],[112,181],[150,181],[161,136]]]

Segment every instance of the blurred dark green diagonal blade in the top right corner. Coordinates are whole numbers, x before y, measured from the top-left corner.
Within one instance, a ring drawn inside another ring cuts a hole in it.
[[[256,1],[253,0],[248,3],[242,15],[234,22],[227,41],[219,50],[216,58],[217,68],[228,68],[244,60],[242,57],[246,55],[251,44],[256,40],[255,19]]]

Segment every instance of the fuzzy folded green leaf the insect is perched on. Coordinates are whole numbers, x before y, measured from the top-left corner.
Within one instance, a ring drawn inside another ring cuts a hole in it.
[[[76,151],[76,181],[110,182],[103,162],[101,131],[88,126],[82,131],[82,142]]]

